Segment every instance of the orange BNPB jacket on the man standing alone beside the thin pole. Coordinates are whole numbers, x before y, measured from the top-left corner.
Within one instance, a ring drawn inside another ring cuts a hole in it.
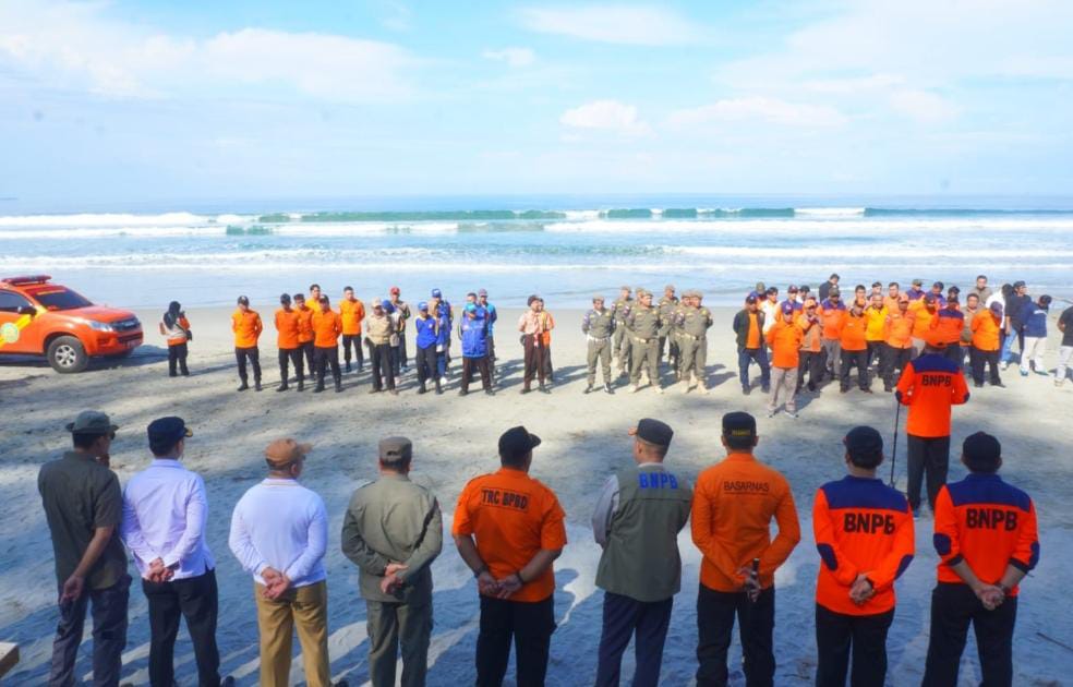
[[[950,407],[968,400],[968,387],[957,363],[938,353],[926,353],[905,363],[896,396],[909,407],[906,434],[925,438],[950,436]]]

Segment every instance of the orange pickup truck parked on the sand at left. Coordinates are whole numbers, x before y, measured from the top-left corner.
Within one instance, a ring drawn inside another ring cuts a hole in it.
[[[93,357],[121,358],[142,345],[134,313],[94,305],[50,279],[0,279],[0,355],[44,355],[68,373],[82,372]]]

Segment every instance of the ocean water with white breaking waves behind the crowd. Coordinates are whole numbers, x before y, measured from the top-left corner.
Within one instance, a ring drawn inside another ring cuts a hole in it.
[[[0,203],[0,277],[49,274],[103,303],[224,305],[353,286],[363,299],[489,289],[580,308],[665,284],[737,304],[757,281],[816,288],[913,278],[1024,279],[1073,296],[1073,198],[456,197],[128,204]],[[81,208],[80,208],[81,209]]]

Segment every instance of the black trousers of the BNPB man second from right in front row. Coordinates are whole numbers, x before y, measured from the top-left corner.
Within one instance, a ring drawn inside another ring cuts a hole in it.
[[[845,687],[851,651],[849,685],[883,685],[887,679],[887,631],[893,620],[893,608],[872,615],[845,615],[816,604],[816,687]]]

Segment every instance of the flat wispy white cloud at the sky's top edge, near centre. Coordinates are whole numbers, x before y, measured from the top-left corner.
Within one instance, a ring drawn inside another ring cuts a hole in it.
[[[522,24],[531,31],[637,46],[696,41],[698,27],[671,10],[630,5],[526,8]]]

